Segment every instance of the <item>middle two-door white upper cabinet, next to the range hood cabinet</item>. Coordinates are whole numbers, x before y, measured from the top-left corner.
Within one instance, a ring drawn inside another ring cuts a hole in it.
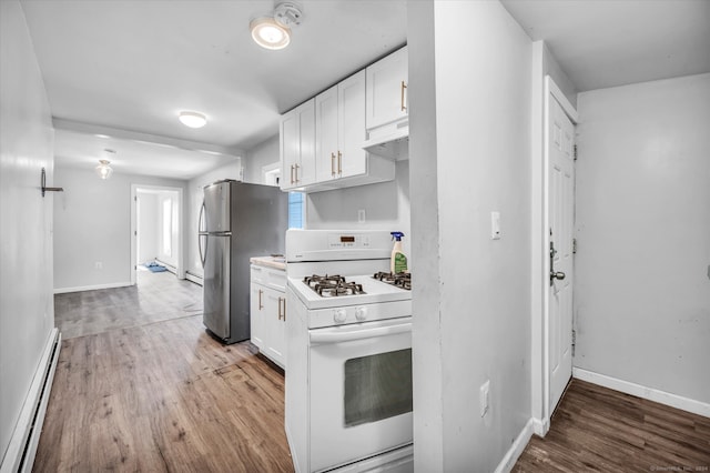
[[[316,95],[315,122],[317,181],[365,174],[365,71]]]

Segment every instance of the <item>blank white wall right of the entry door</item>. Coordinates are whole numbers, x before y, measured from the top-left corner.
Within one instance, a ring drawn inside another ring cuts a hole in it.
[[[710,403],[710,74],[578,105],[575,365]]]

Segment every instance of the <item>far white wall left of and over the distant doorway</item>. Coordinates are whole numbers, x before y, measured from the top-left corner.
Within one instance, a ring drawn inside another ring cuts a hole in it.
[[[58,167],[54,198],[54,290],[131,283],[131,184],[185,188],[185,181]],[[102,269],[97,269],[100,262]]]

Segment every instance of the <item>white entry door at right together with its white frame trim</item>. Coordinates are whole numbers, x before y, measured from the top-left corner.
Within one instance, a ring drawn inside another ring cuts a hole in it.
[[[577,111],[547,76],[544,81],[539,220],[534,220],[532,417],[544,436],[572,371],[574,211]],[[539,291],[539,292],[538,292]],[[539,328],[539,330],[538,330]],[[536,346],[537,345],[537,346]]]

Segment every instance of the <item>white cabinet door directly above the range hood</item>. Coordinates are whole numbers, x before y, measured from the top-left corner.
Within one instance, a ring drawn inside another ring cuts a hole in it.
[[[404,47],[366,69],[368,130],[407,117],[407,68]]]

